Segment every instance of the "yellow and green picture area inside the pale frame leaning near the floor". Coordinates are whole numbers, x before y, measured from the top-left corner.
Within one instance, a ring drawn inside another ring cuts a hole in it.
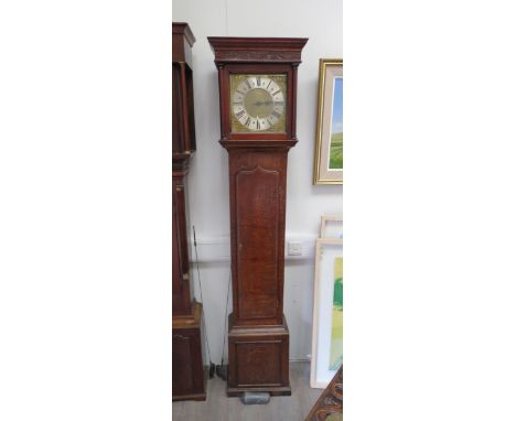
[[[343,339],[343,289],[342,289],[342,257],[335,258],[335,280],[333,283],[332,309],[332,343],[330,347],[330,370],[336,370],[342,364]]]

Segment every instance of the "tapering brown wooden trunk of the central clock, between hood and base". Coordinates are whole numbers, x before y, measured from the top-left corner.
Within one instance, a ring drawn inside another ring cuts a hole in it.
[[[287,150],[230,149],[234,323],[281,324]]]

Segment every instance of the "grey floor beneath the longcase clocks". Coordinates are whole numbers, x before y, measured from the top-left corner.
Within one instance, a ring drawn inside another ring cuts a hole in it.
[[[208,380],[204,402],[172,404],[174,421],[303,421],[323,389],[310,388],[310,363],[290,363],[292,396],[271,397],[268,404],[245,406],[226,396],[226,382]]]

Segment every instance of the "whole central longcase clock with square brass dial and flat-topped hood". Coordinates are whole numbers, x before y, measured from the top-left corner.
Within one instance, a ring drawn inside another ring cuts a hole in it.
[[[307,39],[208,37],[229,155],[233,313],[228,396],[290,395],[283,316],[287,154]]]

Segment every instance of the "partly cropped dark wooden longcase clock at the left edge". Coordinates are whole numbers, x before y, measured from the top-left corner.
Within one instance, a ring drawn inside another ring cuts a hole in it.
[[[192,45],[186,23],[172,24],[172,400],[205,400],[203,307],[192,301],[186,176],[195,152]]]

